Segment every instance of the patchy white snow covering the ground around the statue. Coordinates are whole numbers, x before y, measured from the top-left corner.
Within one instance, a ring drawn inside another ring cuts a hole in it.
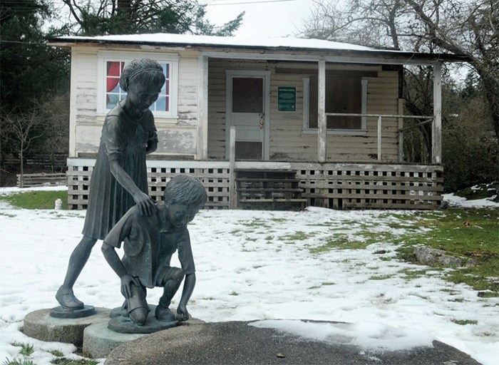
[[[19,191],[1,188],[0,194]],[[445,198],[451,206],[471,204],[453,195]],[[478,205],[499,207],[488,200],[473,201]],[[411,217],[414,212],[397,214]],[[84,215],[74,210],[21,210],[0,202],[0,361],[22,358],[14,343],[34,345],[34,364],[50,364],[54,356],[48,351],[55,349],[78,357],[71,344],[31,339],[20,329],[29,312],[58,305],[53,296],[81,239]],[[392,228],[394,222],[406,228]],[[366,228],[379,232],[380,240],[365,250],[311,253],[335,237],[362,240],[359,232]],[[259,319],[254,325],[356,344],[361,351],[431,346],[438,339],[484,365],[497,364],[499,299],[480,298],[470,287],[443,281],[437,271],[409,278],[407,272],[423,267],[399,262],[396,247],[382,239],[387,232],[400,235],[407,230],[418,235],[410,221],[386,211],[203,210],[190,225],[197,284],[187,308],[207,322]],[[98,242],[75,294],[86,304],[118,307],[120,282],[100,247]],[[151,290],[148,302],[156,304],[161,293],[160,288]]]

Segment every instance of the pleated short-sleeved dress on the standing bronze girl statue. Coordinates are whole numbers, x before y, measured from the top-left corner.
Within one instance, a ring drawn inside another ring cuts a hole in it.
[[[103,240],[135,205],[132,195],[115,180],[109,162],[117,160],[135,185],[148,194],[145,155],[149,145],[158,143],[153,113],[145,110],[142,118],[130,118],[120,103],[110,110],[104,121],[91,178],[83,235],[95,240]]]

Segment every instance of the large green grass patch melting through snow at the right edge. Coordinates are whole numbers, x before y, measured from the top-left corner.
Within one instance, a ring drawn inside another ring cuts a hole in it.
[[[323,245],[309,249],[312,254],[330,250],[362,250],[367,246],[386,242],[396,245],[397,258],[418,264],[414,255],[416,245],[444,250],[448,255],[468,257],[478,264],[470,267],[453,267],[443,274],[443,279],[470,285],[481,297],[499,297],[499,210],[494,209],[449,209],[411,214],[382,213],[379,216],[391,228],[403,228],[403,233],[374,232],[371,225],[363,225],[355,240],[338,233],[325,240]],[[395,218],[391,221],[389,218]],[[387,223],[386,221],[389,220]],[[336,230],[338,232],[338,230]],[[391,260],[381,257],[382,261]],[[436,266],[433,271],[443,269]],[[404,279],[416,279],[427,275],[426,269],[403,270]],[[372,277],[371,279],[384,279]],[[490,292],[489,292],[490,291]]]

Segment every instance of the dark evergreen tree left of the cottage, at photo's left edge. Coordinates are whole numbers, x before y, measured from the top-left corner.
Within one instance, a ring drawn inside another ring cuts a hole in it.
[[[8,170],[6,155],[22,163],[24,152],[39,152],[51,139],[45,132],[53,118],[38,113],[39,106],[69,91],[69,52],[45,43],[47,34],[61,34],[44,28],[52,19],[48,4],[0,0],[0,185]]]

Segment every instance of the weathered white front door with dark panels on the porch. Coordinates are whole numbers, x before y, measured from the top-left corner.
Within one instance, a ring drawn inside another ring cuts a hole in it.
[[[227,71],[227,130],[236,128],[237,160],[268,159],[268,83],[268,71]]]

